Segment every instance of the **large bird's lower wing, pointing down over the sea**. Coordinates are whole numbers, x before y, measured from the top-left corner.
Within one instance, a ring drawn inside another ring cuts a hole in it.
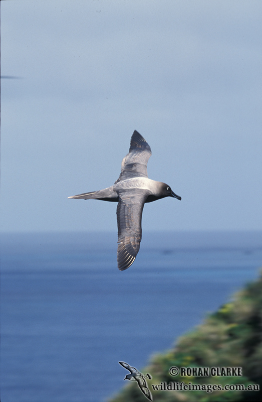
[[[117,263],[120,271],[126,270],[135,260],[142,238],[142,211],[148,190],[119,192],[117,205],[118,248]]]

